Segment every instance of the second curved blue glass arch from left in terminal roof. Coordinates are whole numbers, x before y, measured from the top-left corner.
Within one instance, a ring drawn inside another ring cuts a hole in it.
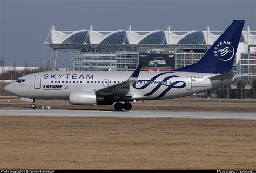
[[[126,31],[115,32],[106,37],[100,44],[128,44]]]

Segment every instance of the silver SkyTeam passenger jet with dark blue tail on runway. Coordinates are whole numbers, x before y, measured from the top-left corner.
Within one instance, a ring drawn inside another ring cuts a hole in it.
[[[164,72],[52,71],[25,75],[5,90],[31,100],[64,99],[72,105],[112,105],[130,110],[136,100],[171,99],[231,84],[232,65],[244,20],[234,20],[201,59],[191,66]],[[124,102],[124,103],[122,103]]]

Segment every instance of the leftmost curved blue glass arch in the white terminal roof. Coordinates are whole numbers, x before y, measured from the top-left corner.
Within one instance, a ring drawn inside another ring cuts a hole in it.
[[[62,43],[63,44],[84,44],[84,43],[90,43],[90,37],[89,37],[88,31],[80,31],[78,33],[70,35]]]

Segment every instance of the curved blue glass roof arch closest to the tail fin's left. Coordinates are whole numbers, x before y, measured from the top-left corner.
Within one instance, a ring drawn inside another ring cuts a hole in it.
[[[183,44],[183,45],[201,45],[206,44],[205,37],[203,32],[201,31],[195,31],[192,33],[189,33],[185,35],[183,38],[181,38],[177,44]]]

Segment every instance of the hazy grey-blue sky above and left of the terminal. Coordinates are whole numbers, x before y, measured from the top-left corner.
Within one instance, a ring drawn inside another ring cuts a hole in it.
[[[0,56],[5,64],[39,66],[52,25],[62,30],[224,31],[234,19],[244,19],[246,30],[256,28],[256,0],[0,0]],[[49,59],[51,47],[46,46]],[[57,66],[71,67],[69,53],[58,52]]]

